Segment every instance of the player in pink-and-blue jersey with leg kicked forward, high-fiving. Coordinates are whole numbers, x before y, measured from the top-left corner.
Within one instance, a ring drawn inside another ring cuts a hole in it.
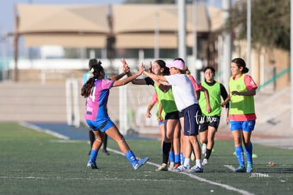
[[[105,71],[101,62],[98,61],[97,64],[93,64],[92,69],[89,73],[89,79],[81,88],[81,95],[87,98],[86,103],[86,123],[91,127],[93,133],[96,137],[99,137],[99,131],[105,132],[117,142],[122,153],[125,154],[128,160],[132,163],[134,170],[144,165],[144,163],[149,160],[149,158],[143,158],[142,160],[137,160],[132,150],[125,141],[125,138],[120,134],[117,126],[112,122],[108,116],[106,107],[108,103],[109,90],[112,87],[118,87],[121,85],[126,85],[133,79],[140,76],[144,71],[144,66],[141,66],[138,73],[122,79],[120,81],[111,81],[104,79]],[[102,140],[96,139],[93,143],[91,149],[91,156],[88,160],[88,167],[91,169],[97,169],[96,158],[98,156],[98,148],[100,148]]]

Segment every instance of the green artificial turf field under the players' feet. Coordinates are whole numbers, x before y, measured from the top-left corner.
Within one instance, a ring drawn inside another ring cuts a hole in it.
[[[161,143],[127,140],[134,153],[161,164]],[[0,194],[292,194],[293,150],[253,145],[253,174],[234,173],[232,141],[216,141],[202,174],[133,170],[125,156],[98,155],[99,170],[86,168],[86,141],[59,138],[19,126],[0,124]],[[108,148],[118,150],[109,139]],[[275,166],[268,166],[274,161]],[[195,162],[191,162],[192,165]],[[222,185],[222,186],[221,186]],[[243,190],[243,191],[241,191]]]

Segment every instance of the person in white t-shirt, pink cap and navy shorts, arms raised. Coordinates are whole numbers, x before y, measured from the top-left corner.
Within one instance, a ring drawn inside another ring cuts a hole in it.
[[[200,159],[200,144],[197,141],[199,120],[201,117],[200,106],[195,98],[195,89],[188,76],[185,74],[183,59],[175,59],[171,64],[166,65],[170,69],[171,75],[160,76],[154,73],[144,71],[156,82],[166,86],[172,85],[174,100],[179,112],[184,116],[184,147],[185,161],[184,165],[176,168],[177,171],[203,172]],[[191,145],[195,152],[196,165],[190,169]],[[189,159],[189,160],[188,160]]]

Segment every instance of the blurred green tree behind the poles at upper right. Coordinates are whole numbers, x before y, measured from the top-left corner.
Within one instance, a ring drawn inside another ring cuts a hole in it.
[[[236,39],[246,39],[246,0],[238,1],[231,8],[226,28],[236,32]],[[277,47],[289,51],[290,37],[289,0],[251,1],[251,42],[253,47]]]

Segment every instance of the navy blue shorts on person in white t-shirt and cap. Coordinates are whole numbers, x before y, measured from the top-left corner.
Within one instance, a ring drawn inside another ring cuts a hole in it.
[[[184,116],[184,135],[197,135],[200,126],[200,118],[202,117],[202,110],[198,104],[186,107],[183,110]]]

